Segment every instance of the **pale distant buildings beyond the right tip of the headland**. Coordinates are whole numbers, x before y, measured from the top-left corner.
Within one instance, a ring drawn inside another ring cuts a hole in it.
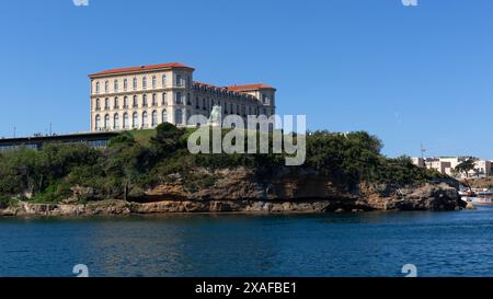
[[[434,169],[443,174],[447,174],[456,177],[465,177],[463,173],[457,173],[456,166],[463,161],[470,159],[470,157],[439,157],[439,158],[412,158],[413,164],[420,168]],[[477,160],[474,162],[474,169],[468,173],[469,177],[484,177],[492,174],[492,161],[490,160]]]

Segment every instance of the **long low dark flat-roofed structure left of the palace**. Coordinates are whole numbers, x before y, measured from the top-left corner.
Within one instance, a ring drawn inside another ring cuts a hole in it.
[[[83,143],[91,148],[105,148],[108,141],[118,136],[118,133],[84,133],[59,136],[35,136],[22,138],[0,139],[0,152],[11,151],[21,147],[28,149],[41,149],[46,143]]]

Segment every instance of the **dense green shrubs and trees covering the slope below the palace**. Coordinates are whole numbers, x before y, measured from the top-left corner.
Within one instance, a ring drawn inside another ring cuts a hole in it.
[[[264,180],[284,168],[285,153],[191,154],[187,138],[193,131],[162,124],[156,130],[124,133],[104,150],[54,143],[38,151],[23,148],[0,153],[0,208],[13,198],[57,203],[70,197],[74,186],[91,189],[79,200],[127,199],[173,175],[196,189],[214,186],[214,170],[243,166]],[[314,131],[307,136],[306,163],[296,168],[316,171],[343,189],[362,182],[400,186],[440,177],[414,166],[408,157],[388,159],[381,148],[381,141],[365,131]],[[197,175],[197,169],[211,174]]]

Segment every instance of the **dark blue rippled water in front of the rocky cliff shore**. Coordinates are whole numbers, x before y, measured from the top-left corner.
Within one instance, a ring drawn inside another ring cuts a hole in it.
[[[0,219],[0,276],[493,276],[493,208]]]

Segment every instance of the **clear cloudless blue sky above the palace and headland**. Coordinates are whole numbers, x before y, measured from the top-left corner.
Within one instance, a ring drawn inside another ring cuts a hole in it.
[[[383,153],[493,159],[493,1],[10,0],[0,136],[89,129],[88,73],[180,61],[265,82],[310,129],[367,130]]]

